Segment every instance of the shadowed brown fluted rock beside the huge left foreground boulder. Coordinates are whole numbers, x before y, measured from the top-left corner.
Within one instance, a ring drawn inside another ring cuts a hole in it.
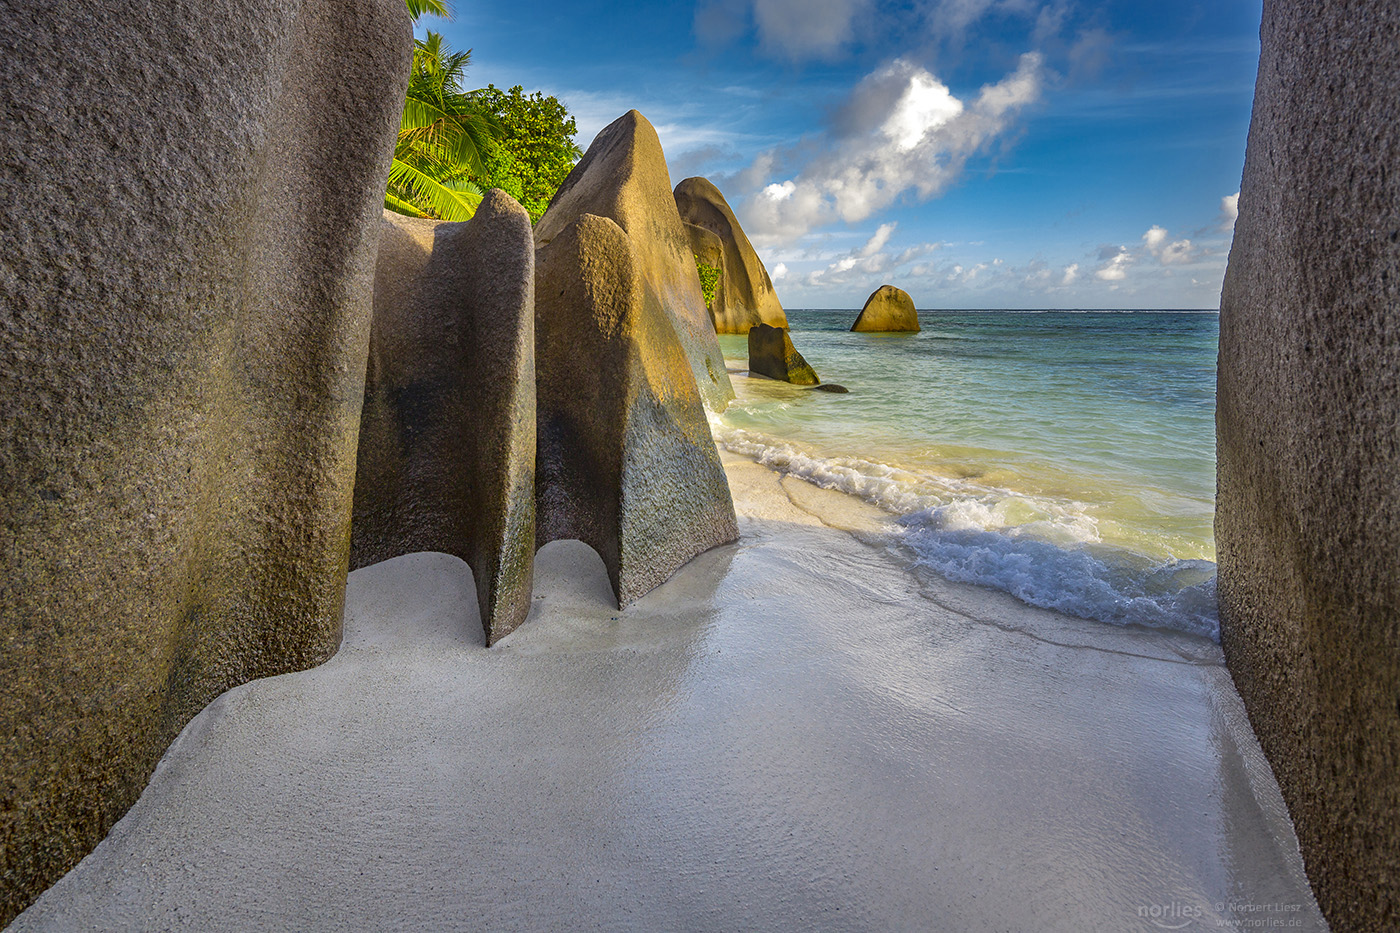
[[[351,569],[466,560],[487,644],[529,614],[535,245],[503,192],[466,223],[384,214],[351,531]]]

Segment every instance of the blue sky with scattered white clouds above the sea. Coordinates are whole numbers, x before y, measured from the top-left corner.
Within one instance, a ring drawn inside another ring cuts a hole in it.
[[[1214,308],[1260,0],[458,0],[469,84],[630,108],[790,308]]]

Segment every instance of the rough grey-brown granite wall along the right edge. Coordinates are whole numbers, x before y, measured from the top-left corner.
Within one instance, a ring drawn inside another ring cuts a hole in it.
[[[1400,17],[1267,0],[1221,300],[1221,643],[1336,930],[1400,929]]]

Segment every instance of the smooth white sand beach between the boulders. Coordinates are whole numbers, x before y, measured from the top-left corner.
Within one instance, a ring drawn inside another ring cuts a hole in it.
[[[1326,929],[1214,643],[921,583],[725,465],[741,542],[626,612],[568,542],[490,650],[455,558],[353,573],[339,654],[216,700],[11,929]]]

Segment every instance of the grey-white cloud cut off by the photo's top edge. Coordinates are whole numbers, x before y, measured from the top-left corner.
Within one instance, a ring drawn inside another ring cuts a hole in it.
[[[701,42],[729,42],[752,21],[763,49],[802,62],[830,59],[854,38],[855,24],[874,0],[704,0],[696,6],[694,32]]]

